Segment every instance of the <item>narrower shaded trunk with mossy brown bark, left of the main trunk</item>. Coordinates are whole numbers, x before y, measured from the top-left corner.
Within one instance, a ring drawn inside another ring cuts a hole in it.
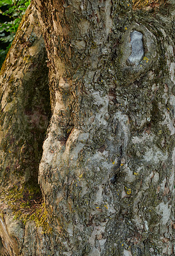
[[[34,212],[39,215],[42,207],[38,168],[51,115],[46,60],[36,10],[31,5],[1,69],[2,255],[19,255],[22,221],[26,223],[32,216],[36,219]]]

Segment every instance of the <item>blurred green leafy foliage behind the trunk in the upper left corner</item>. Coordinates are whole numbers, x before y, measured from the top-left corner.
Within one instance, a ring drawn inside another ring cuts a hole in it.
[[[0,0],[0,68],[31,0]]]

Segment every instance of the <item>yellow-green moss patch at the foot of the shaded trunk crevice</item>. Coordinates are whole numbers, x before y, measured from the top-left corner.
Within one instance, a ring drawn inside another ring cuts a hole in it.
[[[40,187],[37,184],[14,185],[1,194],[13,212],[14,219],[21,220],[24,225],[27,221],[34,221],[36,227],[42,227],[43,233],[50,233],[48,212],[42,202]]]

